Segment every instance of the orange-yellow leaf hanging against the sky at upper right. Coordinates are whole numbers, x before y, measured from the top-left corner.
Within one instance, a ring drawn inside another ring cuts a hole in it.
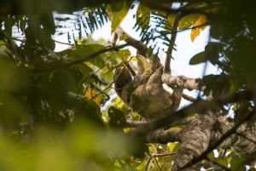
[[[196,27],[196,28],[192,29],[190,33],[190,39],[192,42],[194,42],[195,38],[200,35],[201,31],[205,30],[206,23],[207,23],[207,16],[204,14],[201,14],[198,20],[196,20],[195,24],[193,25],[193,27]]]

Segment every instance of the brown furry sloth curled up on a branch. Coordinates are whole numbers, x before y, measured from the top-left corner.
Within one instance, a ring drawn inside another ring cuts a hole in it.
[[[172,94],[163,88],[163,66],[158,58],[148,60],[139,55],[138,74],[132,77],[131,67],[120,66],[114,71],[116,93],[126,105],[140,116],[153,121],[177,111],[183,88],[176,86]]]

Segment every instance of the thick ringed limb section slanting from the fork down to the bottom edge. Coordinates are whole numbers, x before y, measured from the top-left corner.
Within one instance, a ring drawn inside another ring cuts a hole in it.
[[[187,170],[181,169],[188,164],[192,159],[198,157],[206,151],[210,144],[212,125],[216,118],[213,112],[200,115],[194,122],[183,128],[181,140],[182,144],[177,151],[172,166],[173,171]],[[199,161],[198,161],[199,162]],[[195,164],[195,162],[194,162]],[[188,170],[198,170],[197,165]]]

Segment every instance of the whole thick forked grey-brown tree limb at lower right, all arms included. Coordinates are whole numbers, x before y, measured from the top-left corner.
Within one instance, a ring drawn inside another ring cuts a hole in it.
[[[244,113],[245,117],[235,125],[228,122],[227,117],[215,117],[213,112],[212,115],[199,115],[182,129],[150,132],[145,140],[148,143],[161,144],[173,141],[182,142],[172,170],[198,170],[201,165],[200,161],[206,159],[207,153],[213,149],[233,147],[237,152],[246,154],[256,152],[254,125],[244,123],[253,114],[253,111],[250,114]],[[214,126],[216,122],[219,123],[218,128]]]

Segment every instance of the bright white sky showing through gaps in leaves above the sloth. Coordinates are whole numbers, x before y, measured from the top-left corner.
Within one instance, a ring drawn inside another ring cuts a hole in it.
[[[132,29],[134,23],[135,20],[132,18],[132,14],[128,14],[125,20],[123,20],[121,26],[125,31],[132,35],[132,37],[139,39],[138,33]],[[96,31],[93,34],[93,37],[95,39],[103,37],[106,40],[111,40],[110,28],[111,25],[110,23],[108,23],[102,29]],[[193,43],[190,40],[190,31],[191,30],[177,33],[177,50],[173,51],[174,60],[172,60],[172,72],[174,75],[185,75],[187,77],[202,77],[205,64],[189,66],[189,60],[193,55],[204,51],[208,41],[209,27],[202,31],[201,34],[195,38],[195,41]],[[131,53],[136,54],[136,50],[131,48]],[[164,62],[165,54],[160,53],[160,60]],[[216,74],[217,72],[218,71],[216,67],[212,66],[211,64],[207,64],[207,74]]]

